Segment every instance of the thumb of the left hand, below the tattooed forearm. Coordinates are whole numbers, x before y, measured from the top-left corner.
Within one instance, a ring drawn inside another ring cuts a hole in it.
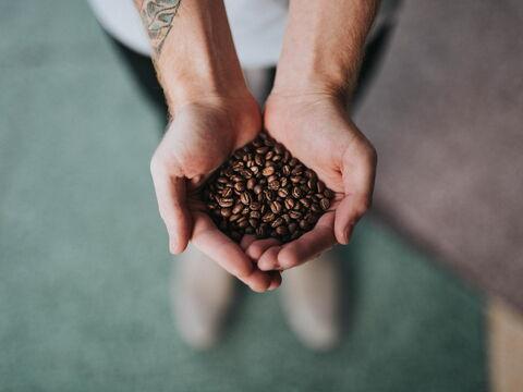
[[[191,213],[186,208],[185,180],[171,177],[160,164],[151,162],[158,210],[169,234],[169,249],[182,253],[188,244],[192,230]]]

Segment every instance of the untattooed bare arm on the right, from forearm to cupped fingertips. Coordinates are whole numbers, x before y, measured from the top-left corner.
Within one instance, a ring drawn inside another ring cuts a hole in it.
[[[246,253],[262,270],[292,268],[336,243],[348,244],[370,206],[376,151],[345,108],[376,8],[374,0],[291,0],[265,125],[337,197],[300,238],[283,246],[251,244]]]

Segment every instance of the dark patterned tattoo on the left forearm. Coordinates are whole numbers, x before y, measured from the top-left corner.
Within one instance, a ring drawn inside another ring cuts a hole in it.
[[[142,4],[139,0],[137,2],[153,49],[159,56],[182,0],[143,0]]]

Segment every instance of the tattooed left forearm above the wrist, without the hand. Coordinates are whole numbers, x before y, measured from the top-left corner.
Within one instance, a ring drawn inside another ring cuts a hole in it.
[[[135,0],[171,110],[246,91],[222,0]]]

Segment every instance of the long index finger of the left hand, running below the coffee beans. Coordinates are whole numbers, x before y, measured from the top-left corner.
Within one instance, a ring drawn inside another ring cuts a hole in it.
[[[219,231],[204,212],[194,213],[192,242],[252,290],[263,292],[269,287],[270,275],[259,271],[240,245]]]

